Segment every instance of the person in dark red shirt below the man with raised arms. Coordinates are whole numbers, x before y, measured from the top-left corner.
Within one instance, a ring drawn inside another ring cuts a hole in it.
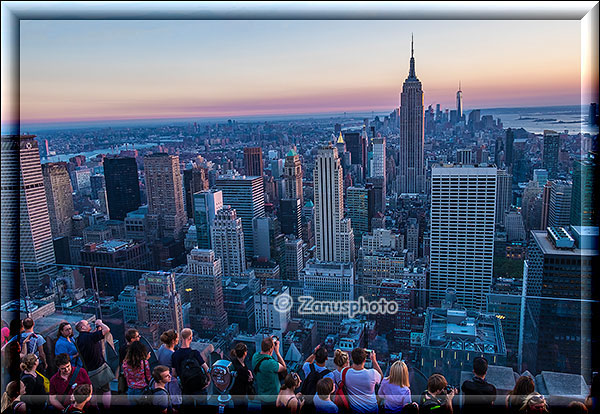
[[[58,354],[55,359],[58,372],[50,378],[50,404],[59,411],[69,406],[73,390],[78,385],[92,384],[85,368],[71,364],[68,354]]]

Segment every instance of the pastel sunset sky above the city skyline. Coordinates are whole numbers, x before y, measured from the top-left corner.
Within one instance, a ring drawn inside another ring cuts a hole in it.
[[[22,122],[580,103],[580,22],[21,21]]]

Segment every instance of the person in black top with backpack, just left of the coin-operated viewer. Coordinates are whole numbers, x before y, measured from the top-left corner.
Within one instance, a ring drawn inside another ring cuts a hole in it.
[[[193,341],[193,332],[189,328],[181,330],[181,346],[171,356],[173,375],[178,376],[181,383],[181,391],[184,396],[193,396],[193,404],[202,403],[206,400],[210,375],[208,375],[208,354],[213,351],[209,345],[204,350],[204,355],[190,348]],[[184,401],[184,404],[186,402]],[[192,404],[192,405],[193,405]]]

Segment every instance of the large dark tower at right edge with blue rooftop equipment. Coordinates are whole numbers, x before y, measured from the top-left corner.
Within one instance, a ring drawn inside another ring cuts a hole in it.
[[[521,305],[523,369],[531,372],[591,372],[590,299],[598,228],[579,230],[531,232]]]

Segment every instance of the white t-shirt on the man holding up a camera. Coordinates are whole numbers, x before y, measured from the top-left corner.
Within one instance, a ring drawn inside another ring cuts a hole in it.
[[[381,375],[374,369],[350,368],[346,372],[346,389],[352,411],[359,413],[377,412],[375,385],[381,382]]]

